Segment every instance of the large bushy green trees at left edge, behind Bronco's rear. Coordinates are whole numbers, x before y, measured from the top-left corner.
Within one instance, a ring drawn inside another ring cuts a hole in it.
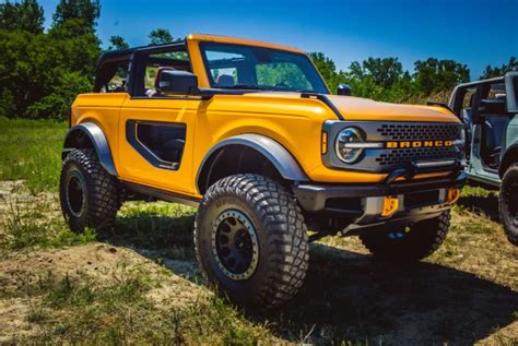
[[[48,33],[0,29],[0,116],[64,119],[91,91],[101,48],[83,19],[70,19]]]

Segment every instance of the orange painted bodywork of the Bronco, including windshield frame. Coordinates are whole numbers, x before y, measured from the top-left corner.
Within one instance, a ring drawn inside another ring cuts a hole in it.
[[[216,40],[303,51],[272,44],[231,37],[190,35],[187,37],[192,71],[200,87],[209,87],[199,43]],[[369,99],[329,96],[345,120],[459,122],[439,107],[393,105]],[[186,146],[178,170],[152,166],[126,139],[126,121],[152,120],[187,126]],[[200,196],[196,188],[198,169],[207,153],[226,138],[259,133],[283,145],[317,182],[380,182],[385,174],[330,169],[321,160],[321,130],[326,120],[338,120],[322,102],[301,98],[298,93],[250,93],[195,98],[131,98],[126,93],[84,94],[73,105],[72,123],[93,121],[106,134],[119,178],[126,181]],[[332,139],[329,139],[332,141]]]

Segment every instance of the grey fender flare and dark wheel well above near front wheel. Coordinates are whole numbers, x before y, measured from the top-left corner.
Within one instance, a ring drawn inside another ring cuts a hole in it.
[[[257,174],[284,182],[309,180],[279,142],[248,133],[223,140],[207,153],[196,178],[198,191],[203,194],[215,181],[237,174]]]

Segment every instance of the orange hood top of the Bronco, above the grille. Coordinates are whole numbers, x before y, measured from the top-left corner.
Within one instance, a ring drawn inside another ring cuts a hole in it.
[[[345,120],[459,122],[451,111],[443,107],[389,104],[338,95],[328,95],[328,98]]]

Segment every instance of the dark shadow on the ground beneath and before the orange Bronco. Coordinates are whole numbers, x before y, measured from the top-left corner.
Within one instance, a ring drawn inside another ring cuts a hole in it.
[[[195,283],[192,216],[119,219],[101,240],[128,247]],[[297,297],[281,310],[245,312],[291,342],[472,344],[514,322],[518,293],[448,266],[382,265],[370,255],[311,244]]]

